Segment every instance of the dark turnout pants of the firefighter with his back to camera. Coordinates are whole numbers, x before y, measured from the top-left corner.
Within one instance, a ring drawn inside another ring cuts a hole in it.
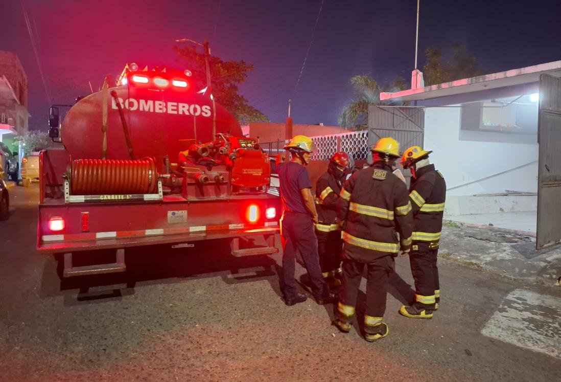
[[[355,315],[358,288],[362,280],[362,271],[366,266],[366,309],[364,315],[365,331],[369,334],[379,333],[386,307],[386,285],[389,275],[394,271],[394,258],[384,256],[365,264],[343,258],[343,287],[339,294],[337,318],[350,324]]]

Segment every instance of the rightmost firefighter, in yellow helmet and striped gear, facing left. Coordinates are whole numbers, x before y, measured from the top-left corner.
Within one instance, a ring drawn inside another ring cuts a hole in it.
[[[410,194],[415,228],[409,257],[411,273],[415,279],[415,302],[402,306],[401,315],[417,319],[430,319],[438,309],[440,284],[436,256],[442,231],[446,182],[444,176],[429,162],[429,154],[419,146],[403,152],[401,164],[410,169]]]

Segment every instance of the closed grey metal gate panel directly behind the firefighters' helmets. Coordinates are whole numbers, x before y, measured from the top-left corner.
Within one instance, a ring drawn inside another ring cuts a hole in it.
[[[425,110],[422,107],[368,107],[368,147],[379,138],[392,137],[401,151],[419,145],[425,138]],[[372,158],[369,154],[369,161]]]

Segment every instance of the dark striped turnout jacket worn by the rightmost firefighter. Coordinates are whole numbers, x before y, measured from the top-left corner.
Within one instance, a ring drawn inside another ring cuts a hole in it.
[[[446,182],[434,165],[421,167],[416,176],[417,179],[411,181],[409,194],[415,222],[412,240],[413,243],[436,243],[442,231]]]

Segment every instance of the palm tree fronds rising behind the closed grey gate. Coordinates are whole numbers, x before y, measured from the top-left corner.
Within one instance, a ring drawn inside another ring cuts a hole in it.
[[[392,104],[392,102],[380,101],[380,92],[399,92],[408,88],[406,81],[401,77],[382,87],[366,74],[351,77],[350,83],[353,99],[343,107],[338,122],[343,128],[352,130],[367,128],[369,104]]]

